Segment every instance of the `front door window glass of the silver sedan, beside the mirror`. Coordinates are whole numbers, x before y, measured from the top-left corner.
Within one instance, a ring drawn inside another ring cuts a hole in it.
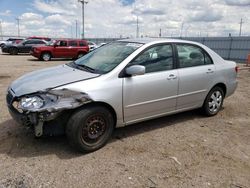
[[[140,54],[133,65],[143,65],[146,73],[173,69],[173,51],[170,44],[152,47]]]

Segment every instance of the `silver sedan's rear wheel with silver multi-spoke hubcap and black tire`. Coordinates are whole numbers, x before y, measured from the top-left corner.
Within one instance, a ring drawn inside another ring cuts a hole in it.
[[[225,94],[222,88],[216,86],[211,89],[204,101],[203,113],[206,116],[216,115],[223,106],[224,97]]]

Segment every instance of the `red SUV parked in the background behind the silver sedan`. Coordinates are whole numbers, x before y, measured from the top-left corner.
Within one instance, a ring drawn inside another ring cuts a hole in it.
[[[61,39],[46,46],[34,47],[30,54],[38,59],[49,61],[51,58],[80,58],[89,52],[87,41]]]

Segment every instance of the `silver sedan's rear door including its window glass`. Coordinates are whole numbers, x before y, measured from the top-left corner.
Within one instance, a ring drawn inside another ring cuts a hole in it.
[[[213,84],[215,66],[201,47],[176,44],[179,89],[177,109],[200,107]]]

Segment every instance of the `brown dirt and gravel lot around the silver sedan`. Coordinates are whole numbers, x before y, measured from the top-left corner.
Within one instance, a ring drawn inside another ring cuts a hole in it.
[[[0,54],[0,188],[250,187],[250,71],[240,71],[237,92],[217,116],[191,111],[120,128],[83,155],[65,137],[34,139],[5,104],[17,77],[66,62]]]

